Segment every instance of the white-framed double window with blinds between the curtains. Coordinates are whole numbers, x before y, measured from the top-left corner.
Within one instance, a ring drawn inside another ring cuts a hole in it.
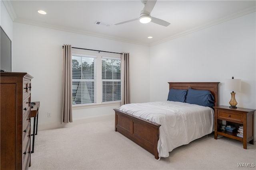
[[[121,101],[120,55],[72,54],[73,106]]]

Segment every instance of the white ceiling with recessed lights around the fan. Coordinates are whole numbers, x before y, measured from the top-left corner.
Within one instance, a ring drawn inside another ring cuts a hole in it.
[[[93,35],[142,45],[155,45],[256,11],[255,0],[158,0],[151,16],[168,21],[168,27],[156,23],[132,21],[144,5],[140,0],[11,0],[3,1],[14,22]],[[38,14],[44,10],[46,15]],[[95,24],[101,21],[109,27]],[[148,39],[152,36],[152,39]]]

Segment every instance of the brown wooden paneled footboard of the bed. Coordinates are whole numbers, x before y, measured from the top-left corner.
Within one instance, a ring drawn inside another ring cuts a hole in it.
[[[118,109],[115,111],[115,131],[128,137],[158,159],[157,143],[161,125],[141,119]]]

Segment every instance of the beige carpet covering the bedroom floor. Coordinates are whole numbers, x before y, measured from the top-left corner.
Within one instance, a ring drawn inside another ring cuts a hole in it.
[[[152,154],[114,131],[114,120],[38,131],[29,170],[82,169],[250,169],[256,164],[256,145],[226,137],[204,136],[157,161]],[[247,168],[238,167],[244,163]],[[245,164],[246,163],[246,164]]]

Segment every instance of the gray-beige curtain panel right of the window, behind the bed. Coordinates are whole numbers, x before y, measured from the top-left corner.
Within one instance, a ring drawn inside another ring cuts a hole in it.
[[[130,54],[121,56],[122,80],[121,80],[121,105],[131,103],[130,99]]]

